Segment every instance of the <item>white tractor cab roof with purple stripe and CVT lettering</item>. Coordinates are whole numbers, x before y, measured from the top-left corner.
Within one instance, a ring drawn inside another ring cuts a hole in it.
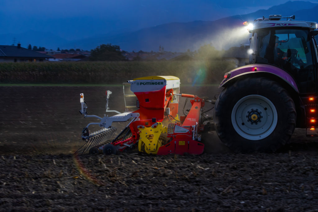
[[[286,19],[286,20],[281,20]],[[256,29],[271,28],[271,27],[300,27],[308,28],[310,31],[317,30],[317,22],[312,21],[294,21],[295,16],[281,17],[281,15],[270,15],[268,18],[262,17],[254,20],[253,28],[249,32]]]

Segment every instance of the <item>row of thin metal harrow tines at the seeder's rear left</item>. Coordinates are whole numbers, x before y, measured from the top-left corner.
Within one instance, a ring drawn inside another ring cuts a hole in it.
[[[87,150],[89,150],[91,147],[95,147],[102,143],[104,140],[109,139],[114,135],[116,132],[116,128],[110,127],[110,128],[103,128],[98,131],[95,131],[93,133],[90,133],[88,136],[83,137],[83,140],[85,140],[85,144],[81,146],[75,153],[78,153],[79,151],[82,151],[81,154],[84,154]]]

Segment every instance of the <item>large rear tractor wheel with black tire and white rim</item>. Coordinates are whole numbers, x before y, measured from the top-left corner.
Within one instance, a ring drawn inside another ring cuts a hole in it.
[[[294,101],[270,79],[239,80],[221,92],[214,124],[219,138],[234,152],[275,152],[294,132]]]

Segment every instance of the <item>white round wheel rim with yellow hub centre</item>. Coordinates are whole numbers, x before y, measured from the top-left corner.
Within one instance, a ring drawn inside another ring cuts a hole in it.
[[[240,136],[248,140],[261,140],[273,133],[277,125],[277,111],[266,97],[249,95],[235,104],[231,119]]]

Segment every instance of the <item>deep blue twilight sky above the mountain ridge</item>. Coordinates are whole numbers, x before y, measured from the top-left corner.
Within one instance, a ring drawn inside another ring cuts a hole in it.
[[[68,40],[170,22],[217,20],[287,0],[0,0],[0,34],[52,32]],[[318,0],[311,0],[318,3]]]

